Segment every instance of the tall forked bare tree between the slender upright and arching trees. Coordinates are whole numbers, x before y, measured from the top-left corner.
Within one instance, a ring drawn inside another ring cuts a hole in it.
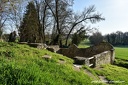
[[[68,14],[67,8],[69,6],[69,1],[72,0],[52,0],[52,3],[49,4],[47,0],[45,0],[56,22],[56,29],[58,34],[54,40],[55,41],[54,43],[59,42],[60,47],[62,46],[61,36],[62,36],[62,29],[64,27],[64,25],[62,24],[64,24]]]

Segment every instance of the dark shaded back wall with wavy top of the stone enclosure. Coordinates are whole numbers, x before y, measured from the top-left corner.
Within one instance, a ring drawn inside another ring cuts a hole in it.
[[[76,45],[71,45],[69,48],[60,48],[57,52],[70,58],[74,58],[76,56],[89,58],[104,51],[111,50],[114,50],[113,46],[109,43],[103,42],[88,48],[78,48]]]

